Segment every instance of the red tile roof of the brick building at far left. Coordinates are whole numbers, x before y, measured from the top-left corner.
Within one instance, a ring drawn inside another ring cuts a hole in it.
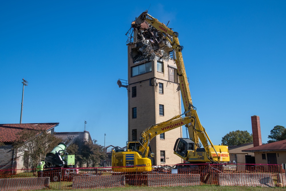
[[[21,123],[21,124],[0,124],[0,142],[12,143],[19,137],[17,134],[23,129],[35,129],[49,131],[59,123]]]

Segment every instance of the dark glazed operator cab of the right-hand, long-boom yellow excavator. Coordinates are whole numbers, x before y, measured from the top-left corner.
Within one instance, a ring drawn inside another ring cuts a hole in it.
[[[179,155],[186,157],[187,151],[194,151],[194,141],[187,138],[178,138],[176,140],[174,151]]]

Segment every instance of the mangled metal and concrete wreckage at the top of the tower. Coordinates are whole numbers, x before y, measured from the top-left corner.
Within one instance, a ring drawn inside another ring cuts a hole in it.
[[[147,21],[133,21],[131,28],[126,33],[129,34],[127,45],[131,44],[130,56],[133,63],[142,61],[158,60],[167,61],[173,59],[173,49],[165,35],[150,25]],[[133,34],[133,36],[132,36]],[[166,34],[169,39],[172,36]]]

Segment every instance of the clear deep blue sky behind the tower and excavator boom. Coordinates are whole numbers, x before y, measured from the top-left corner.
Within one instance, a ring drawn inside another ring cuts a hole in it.
[[[214,144],[235,130],[262,142],[286,126],[286,1],[1,1],[0,123],[54,123],[104,145],[127,141],[127,36],[143,11],[179,33],[190,92]],[[183,128],[184,130],[184,128]],[[185,132],[185,130],[183,131]],[[186,137],[186,135],[183,135]],[[172,143],[171,143],[172,144]]]

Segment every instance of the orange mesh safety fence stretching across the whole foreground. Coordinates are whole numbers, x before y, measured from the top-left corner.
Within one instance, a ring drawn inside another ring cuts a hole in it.
[[[125,169],[125,170],[123,170]],[[123,172],[124,171],[124,172]],[[0,190],[113,188],[128,186],[286,186],[281,165],[180,164],[132,168],[7,169],[0,167]]]

